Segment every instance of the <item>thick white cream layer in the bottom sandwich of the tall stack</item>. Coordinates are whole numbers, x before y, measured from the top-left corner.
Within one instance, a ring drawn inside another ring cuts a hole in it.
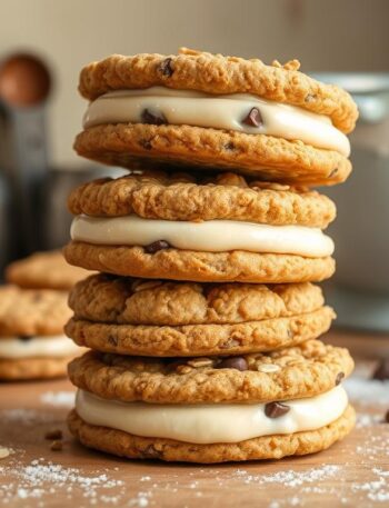
[[[315,430],[337,420],[348,397],[340,386],[307,399],[288,400],[289,412],[279,418],[265,414],[265,404],[156,405],[101,399],[78,390],[76,409],[90,425],[134,436],[176,439],[207,445]]]

